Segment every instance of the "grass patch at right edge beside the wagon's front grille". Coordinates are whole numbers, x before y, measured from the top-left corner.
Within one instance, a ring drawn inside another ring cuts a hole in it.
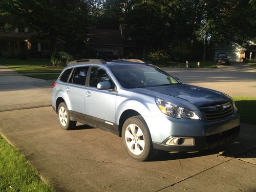
[[[256,98],[255,97],[233,97],[240,114],[240,120],[246,123],[256,124]]]

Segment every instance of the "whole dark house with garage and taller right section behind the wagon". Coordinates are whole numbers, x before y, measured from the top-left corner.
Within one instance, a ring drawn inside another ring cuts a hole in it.
[[[121,24],[119,30],[89,29],[89,49],[101,59],[134,58],[143,55],[144,42],[135,25]]]

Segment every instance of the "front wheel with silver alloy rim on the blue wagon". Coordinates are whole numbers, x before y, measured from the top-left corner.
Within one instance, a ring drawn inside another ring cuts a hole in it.
[[[153,144],[147,124],[142,116],[126,119],[122,127],[122,139],[127,153],[138,161],[153,157]]]

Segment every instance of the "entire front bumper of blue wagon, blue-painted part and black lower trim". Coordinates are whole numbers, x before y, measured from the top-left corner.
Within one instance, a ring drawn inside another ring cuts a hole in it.
[[[240,132],[238,114],[215,122],[176,119],[164,114],[156,118],[145,117],[145,119],[151,133],[153,147],[164,151],[206,150],[233,140]],[[184,139],[185,142],[180,144],[176,138]]]

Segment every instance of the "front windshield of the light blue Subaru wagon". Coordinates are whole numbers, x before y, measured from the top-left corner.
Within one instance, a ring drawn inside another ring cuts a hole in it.
[[[111,66],[110,69],[122,87],[127,89],[167,86],[179,83],[172,76],[154,66]]]

